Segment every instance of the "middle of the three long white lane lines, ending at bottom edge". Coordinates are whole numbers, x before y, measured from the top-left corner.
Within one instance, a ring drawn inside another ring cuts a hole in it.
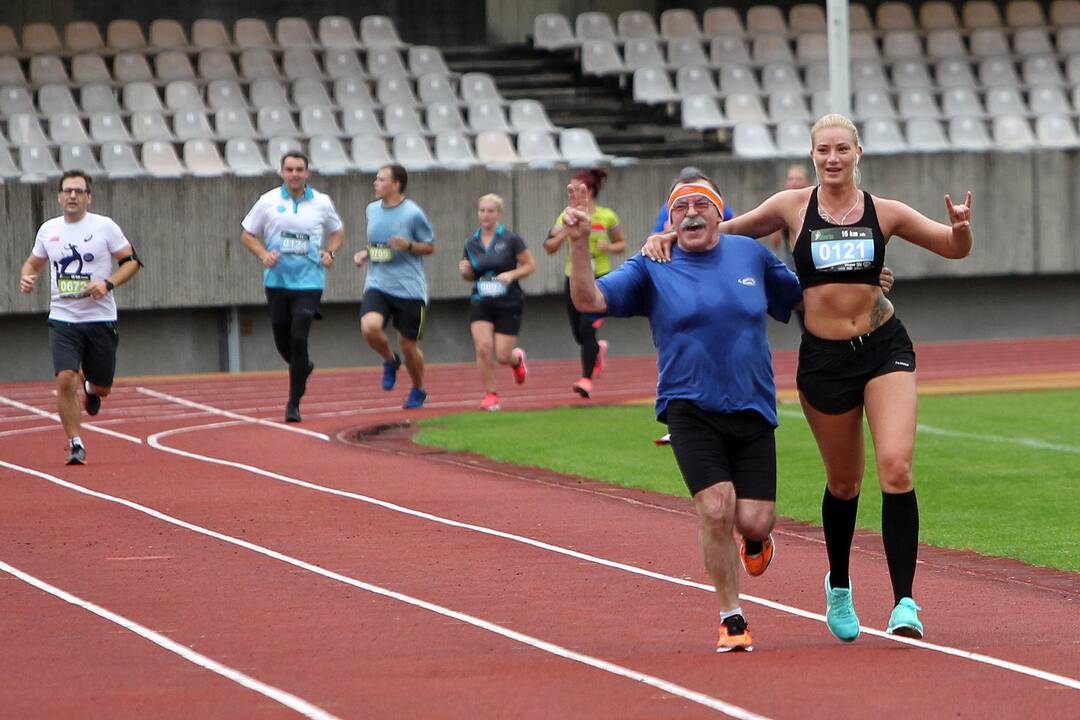
[[[366,592],[372,593],[374,595],[379,595],[379,596],[382,596],[382,597],[386,597],[386,598],[390,598],[391,600],[397,600],[399,602],[404,602],[404,603],[410,604],[410,606],[413,606],[415,608],[420,608],[422,610],[427,610],[429,612],[433,612],[433,613],[436,613],[438,615],[443,615],[444,617],[450,617],[453,620],[457,620],[457,621],[459,621],[461,623],[465,623],[468,625],[472,625],[473,627],[477,627],[480,629],[487,630],[488,633],[492,633],[495,635],[499,635],[499,636],[504,637],[507,639],[514,640],[515,642],[521,642],[523,644],[529,646],[531,648],[536,648],[537,650],[541,650],[541,651],[550,653],[552,655],[557,655],[558,657],[564,657],[566,660],[569,660],[569,661],[572,661],[572,662],[576,662],[576,663],[580,663],[582,665],[588,665],[589,667],[594,667],[594,668],[596,668],[598,670],[603,670],[605,673],[610,673],[611,675],[616,675],[616,676],[619,676],[619,677],[622,677],[622,678],[626,678],[629,680],[634,680],[635,682],[640,682],[643,684],[647,684],[647,685],[650,685],[652,688],[657,688],[658,690],[661,690],[661,691],[663,691],[665,693],[669,693],[670,695],[675,695],[676,697],[681,697],[684,699],[690,701],[691,703],[697,703],[699,705],[703,705],[703,706],[705,706],[705,707],[707,707],[710,709],[717,710],[717,711],[723,712],[723,714],[725,714],[725,715],[727,715],[729,717],[738,718],[739,720],[768,720],[768,718],[766,718],[765,716],[757,715],[756,712],[752,712],[751,710],[747,710],[746,708],[740,707],[738,705],[732,705],[731,703],[726,703],[726,702],[724,702],[724,701],[721,701],[719,698],[713,697],[711,695],[706,695],[706,694],[698,692],[696,690],[690,690],[688,688],[684,688],[683,685],[678,685],[678,684],[676,684],[674,682],[671,682],[669,680],[664,680],[663,678],[658,678],[658,677],[654,677],[654,676],[651,676],[651,675],[647,675],[645,673],[639,673],[637,670],[633,670],[631,668],[623,667],[621,665],[616,665],[615,663],[609,663],[609,662],[600,660],[598,657],[593,657],[591,655],[585,655],[583,653],[575,652],[572,650],[569,650],[568,648],[564,648],[562,646],[557,646],[557,644],[555,644],[553,642],[548,642],[546,640],[541,640],[540,638],[536,638],[536,637],[532,637],[530,635],[525,635],[524,633],[518,633],[516,630],[512,630],[510,628],[502,627],[501,625],[497,625],[497,624],[488,622],[486,620],[482,620],[482,619],[476,617],[474,615],[470,615],[470,614],[467,614],[467,613],[463,613],[463,612],[459,612],[457,610],[451,610],[449,608],[445,608],[443,606],[435,604],[433,602],[428,602],[427,600],[421,600],[421,599],[415,598],[415,597],[413,597],[410,595],[405,595],[404,593],[399,593],[396,590],[391,590],[391,589],[388,589],[388,588],[382,587],[380,585],[374,585],[372,583],[365,583],[362,580],[356,580],[355,578],[350,578],[348,575],[342,575],[341,573],[334,572],[333,570],[327,570],[326,568],[323,568],[321,566],[313,565],[311,562],[307,562],[306,560],[300,560],[298,558],[285,555],[283,553],[279,553],[278,551],[270,549],[269,547],[264,547],[262,545],[256,545],[255,543],[248,542],[246,540],[241,540],[239,538],[233,538],[232,535],[227,535],[225,533],[217,532],[216,530],[210,530],[208,528],[203,528],[203,527],[194,525],[192,522],[188,522],[187,520],[181,520],[181,519],[179,519],[177,517],[173,517],[172,515],[166,515],[165,513],[156,511],[152,507],[147,507],[146,505],[140,505],[140,504],[138,504],[136,502],[133,502],[131,500],[126,500],[125,498],[117,498],[116,495],[110,495],[110,494],[106,494],[104,492],[98,492],[97,490],[91,490],[90,488],[85,488],[85,487],[83,487],[81,485],[76,485],[75,483],[68,483],[67,480],[60,479],[59,477],[56,477],[54,475],[50,475],[48,473],[43,473],[41,471],[33,470],[31,467],[23,467],[22,465],[15,465],[13,463],[10,463],[10,462],[3,461],[3,460],[0,460],[0,466],[8,467],[9,470],[13,470],[13,471],[16,471],[16,472],[19,472],[19,473],[25,473],[27,475],[32,475],[33,477],[39,477],[39,478],[41,478],[43,480],[48,480],[48,481],[50,481],[50,483],[52,483],[54,485],[58,485],[62,488],[66,488],[68,490],[73,490],[73,491],[80,492],[80,493],[82,493],[84,495],[90,495],[92,498],[97,498],[98,500],[105,500],[107,502],[116,503],[118,505],[123,505],[124,507],[129,507],[129,508],[134,510],[134,511],[136,511],[138,513],[143,513],[144,515],[149,515],[150,517],[152,517],[154,519],[162,520],[164,522],[168,522],[170,525],[175,525],[177,527],[184,528],[185,530],[190,530],[191,532],[195,532],[195,533],[201,534],[201,535],[206,535],[207,538],[213,538],[215,540],[220,540],[221,542],[228,543],[230,545],[235,545],[238,547],[243,547],[244,549],[251,551],[253,553],[257,553],[259,555],[262,555],[265,557],[269,557],[269,558],[274,559],[274,560],[279,560],[281,562],[285,562],[285,563],[291,565],[293,567],[300,568],[301,570],[307,570],[308,572],[314,573],[316,575],[322,575],[323,578],[326,578],[328,580],[333,580],[335,582],[342,583],[345,585],[350,585],[352,587],[356,587],[359,589],[366,590]],[[2,561],[0,561],[0,566],[2,566],[2,565],[3,565]],[[63,590],[60,590],[60,592],[63,592]],[[71,597],[73,597],[73,596],[71,596]],[[78,600],[78,598],[75,598],[75,599]],[[69,602],[71,600],[69,600]],[[77,602],[77,604],[78,604],[78,602]],[[86,603],[86,604],[90,604],[90,603]],[[94,606],[94,607],[96,607],[96,606]],[[87,609],[90,609],[90,608],[87,608]],[[108,611],[105,611],[105,612],[108,612]],[[98,614],[100,614],[100,613],[98,613]],[[119,615],[113,615],[113,617],[119,619]],[[109,617],[109,620],[112,620],[112,622],[118,622],[117,620],[113,620],[113,617]],[[123,619],[120,619],[120,620],[123,620]],[[127,621],[127,622],[131,623],[131,621]],[[135,625],[135,623],[131,623],[131,624]],[[147,633],[151,633],[150,630],[147,630],[146,628],[143,628],[141,626],[137,626],[137,627],[146,630]],[[129,628],[129,629],[132,629],[132,628]],[[140,635],[141,635],[141,633],[140,633]],[[157,640],[154,640],[153,638],[148,638],[148,639],[151,639],[154,642],[157,642]],[[164,640],[164,641],[166,641],[166,642],[171,642],[166,638],[161,638],[161,639]],[[159,644],[162,644],[162,643],[159,642]],[[173,644],[175,644],[175,643],[173,643]],[[163,647],[166,647],[166,649],[173,650],[172,647],[167,647],[167,646],[164,646],[164,644],[163,644]],[[183,648],[183,646],[176,646],[176,647],[177,648]],[[185,648],[185,650],[187,650],[187,649]],[[174,652],[177,652],[177,651],[174,650]],[[189,652],[191,652],[191,651],[189,651]],[[195,654],[195,653],[192,653],[192,654]],[[200,655],[200,657],[202,657],[202,656]],[[214,662],[214,661],[210,661],[210,658],[205,658],[205,660],[208,661],[208,662],[212,662],[212,663]],[[224,667],[224,666],[220,666],[220,667]],[[214,668],[210,668],[210,669],[214,669]],[[218,670],[215,670],[215,671],[218,671]],[[222,675],[224,675],[224,673],[222,673]],[[229,676],[227,676],[227,677],[229,677]],[[230,679],[234,679],[234,678],[230,677]],[[278,699],[279,702],[282,702],[278,697],[275,697],[274,699]],[[318,708],[314,708],[314,709],[318,710]],[[322,712],[322,710],[320,710],[320,712]],[[315,717],[315,716],[309,716],[309,717]],[[319,717],[329,718],[332,716],[328,716],[328,715],[324,714],[323,716],[319,716]]]

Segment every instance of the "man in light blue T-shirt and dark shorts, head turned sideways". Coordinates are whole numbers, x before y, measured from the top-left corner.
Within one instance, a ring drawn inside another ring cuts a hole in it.
[[[435,233],[420,206],[405,198],[408,174],[401,165],[383,165],[375,175],[375,196],[367,206],[367,248],[353,257],[356,267],[369,263],[360,309],[360,330],[382,357],[382,389],[397,382],[402,358],[390,349],[386,327],[397,329],[405,369],[413,389],[402,406],[423,407],[423,352],[420,338],[428,309],[428,279],[423,256],[435,252]]]

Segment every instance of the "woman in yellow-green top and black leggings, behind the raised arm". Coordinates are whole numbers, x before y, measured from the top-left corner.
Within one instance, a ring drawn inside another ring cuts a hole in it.
[[[593,229],[589,235],[589,249],[593,256],[593,274],[597,277],[611,272],[611,255],[622,253],[626,248],[626,239],[619,227],[619,216],[609,207],[596,204],[600,188],[607,180],[607,173],[602,168],[581,171],[570,180],[571,185],[582,185],[589,190],[589,213],[592,216]],[[548,234],[543,248],[548,255],[554,255],[567,239],[563,227],[563,215],[555,220],[555,227]],[[581,379],[573,383],[573,391],[582,397],[593,393],[593,378],[604,369],[604,357],[607,354],[607,341],[596,339],[603,320],[593,321],[582,315],[570,300],[570,258],[566,258],[566,284],[563,288],[566,299],[566,314],[570,321],[570,332],[573,340],[581,345]]]

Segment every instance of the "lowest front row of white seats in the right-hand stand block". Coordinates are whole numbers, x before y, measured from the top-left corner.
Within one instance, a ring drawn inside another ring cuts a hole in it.
[[[744,158],[805,158],[810,152],[810,125],[799,121],[780,123],[773,132],[761,123],[735,125],[732,148]],[[948,150],[1068,149],[1080,147],[1076,121],[1065,116],[1042,116],[1031,122],[1020,116],[954,118],[947,125],[928,118],[899,123],[870,120],[860,134],[867,154],[942,152]]]

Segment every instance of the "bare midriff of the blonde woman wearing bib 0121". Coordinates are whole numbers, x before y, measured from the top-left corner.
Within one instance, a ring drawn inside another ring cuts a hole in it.
[[[892,303],[875,285],[831,283],[802,293],[806,326],[826,340],[847,340],[881,327],[892,317]]]

